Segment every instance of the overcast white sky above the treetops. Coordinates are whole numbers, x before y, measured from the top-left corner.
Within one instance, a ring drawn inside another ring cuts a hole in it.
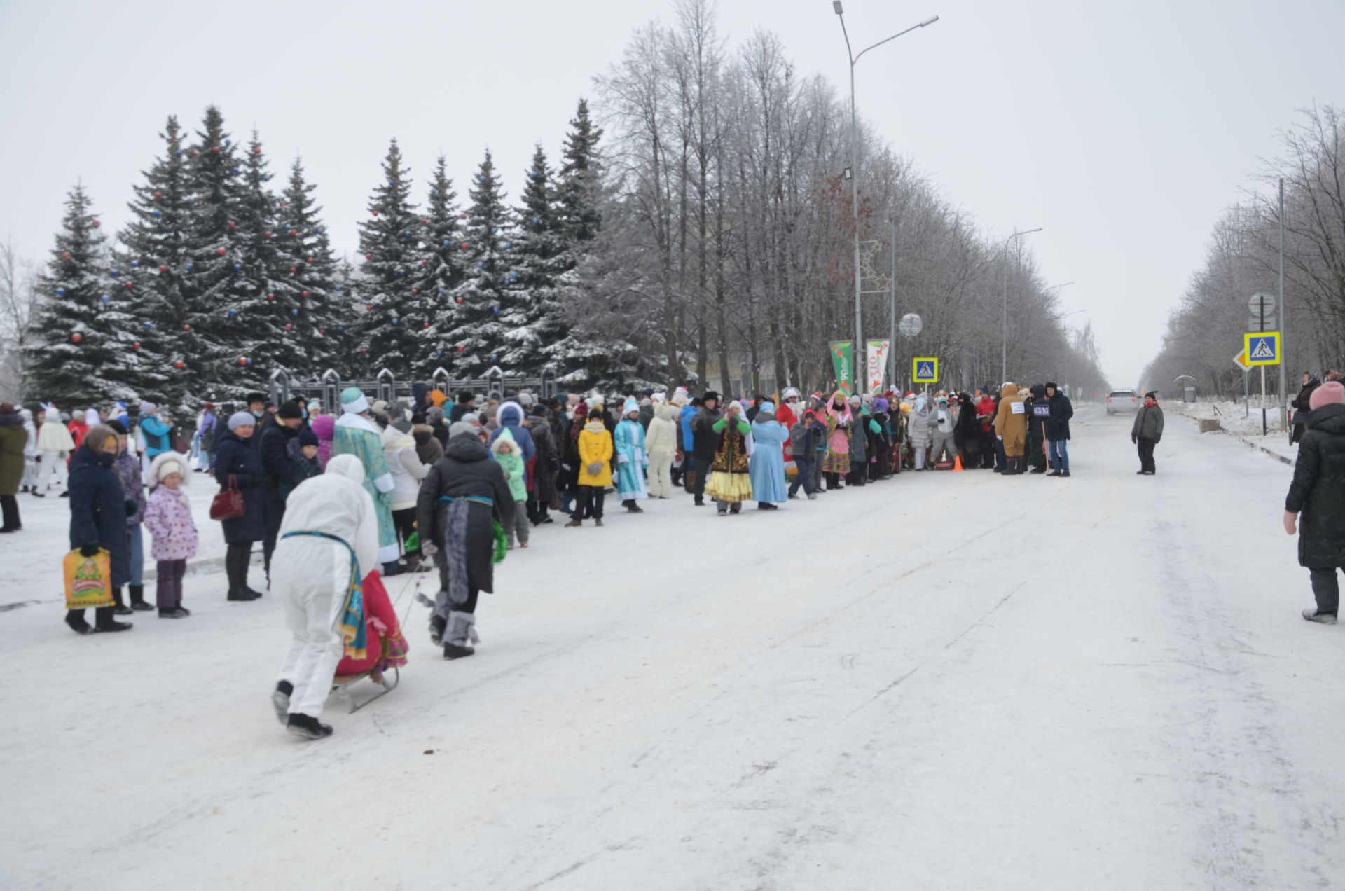
[[[982,227],[1045,229],[1032,249],[1049,283],[1076,283],[1063,308],[1092,320],[1114,385],[1139,382],[1276,128],[1345,102],[1341,0],[846,0],[859,46],[929,15],[861,61],[861,113]],[[460,183],[490,147],[516,192],[534,143],[555,153],[592,75],[655,16],[662,0],[0,0],[0,233],[46,252],[77,179],[120,226],[165,116],[195,129],[215,102],[237,137],[261,131],[274,172],[304,155],[352,252],[389,137],[418,176],[443,151]],[[830,0],[720,16],[845,83]]]

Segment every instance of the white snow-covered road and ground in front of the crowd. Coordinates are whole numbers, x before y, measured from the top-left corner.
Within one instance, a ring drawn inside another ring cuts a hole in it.
[[[317,743],[270,712],[273,598],[206,572],[191,618],[77,637],[65,502],[24,499],[0,887],[1345,887],[1345,626],[1298,616],[1290,468],[1170,423],[1137,476],[1130,424],[1080,409],[1068,480],[546,526],[456,662],[393,580],[402,685]]]

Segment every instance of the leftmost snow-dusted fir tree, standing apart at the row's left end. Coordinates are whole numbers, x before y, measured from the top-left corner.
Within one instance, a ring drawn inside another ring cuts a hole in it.
[[[113,299],[120,276],[108,271],[109,252],[89,194],[70,190],[47,271],[38,283],[39,338],[24,347],[30,401],[63,411],[108,408],[139,396],[139,322],[132,303]],[[134,283],[130,283],[134,284]],[[120,297],[120,295],[118,295]]]

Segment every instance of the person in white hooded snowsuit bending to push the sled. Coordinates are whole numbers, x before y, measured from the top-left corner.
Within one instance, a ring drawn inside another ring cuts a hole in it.
[[[351,592],[352,581],[378,568],[378,514],[364,490],[364,467],[354,455],[335,455],[327,472],[305,479],[289,494],[272,555],[270,590],[295,635],[272,704],[291,734],[331,736],[332,728],[317,717],[336,664],[359,642],[350,638],[356,630],[362,633],[364,623],[363,602]]]

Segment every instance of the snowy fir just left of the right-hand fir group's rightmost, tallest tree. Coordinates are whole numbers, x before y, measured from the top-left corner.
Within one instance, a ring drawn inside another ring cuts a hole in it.
[[[516,211],[518,227],[504,244],[518,279],[511,275],[512,287],[500,311],[504,342],[499,355],[503,367],[510,370],[554,376],[557,363],[547,349],[568,335],[558,277],[569,266],[569,254],[550,164],[541,145],[533,152],[522,199]]]

